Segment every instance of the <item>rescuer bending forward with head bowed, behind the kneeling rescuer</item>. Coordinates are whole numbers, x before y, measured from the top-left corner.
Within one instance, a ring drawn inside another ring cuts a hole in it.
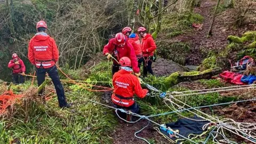
[[[108,44],[103,48],[103,54],[107,55],[107,59],[110,59],[113,54],[113,57],[117,60],[113,60],[112,75],[119,70],[119,59],[122,57],[129,57],[132,61],[132,68],[135,75],[137,77],[140,76],[140,69],[138,68],[138,62],[133,46],[126,41],[126,38],[122,33],[117,33],[115,38],[109,40]]]

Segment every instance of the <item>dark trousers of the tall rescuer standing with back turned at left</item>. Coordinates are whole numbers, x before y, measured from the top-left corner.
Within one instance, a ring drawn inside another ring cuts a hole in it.
[[[59,106],[60,107],[66,107],[67,106],[67,100],[65,97],[65,92],[63,89],[63,86],[60,82],[60,77],[58,73],[58,69],[54,65],[53,67],[50,68],[36,68],[36,76],[37,76],[37,84],[40,86],[44,81],[45,81],[45,74],[47,74],[51,77],[52,82],[54,84],[58,101],[59,101]],[[43,90],[39,92],[39,94],[43,94]]]

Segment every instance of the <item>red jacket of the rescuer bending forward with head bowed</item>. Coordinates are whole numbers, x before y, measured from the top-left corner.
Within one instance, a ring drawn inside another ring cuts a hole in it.
[[[118,52],[119,59],[122,57],[130,58],[132,62],[133,71],[135,73],[139,73],[140,69],[138,67],[138,61],[137,61],[137,57],[135,55],[133,46],[130,43],[125,43],[124,47],[119,47],[115,43],[115,38],[111,38],[108,44],[104,46],[103,54],[105,55],[106,53],[110,53],[110,54],[114,53],[115,47]],[[119,59],[117,58],[118,61]],[[117,64],[115,60],[114,60],[114,63]]]

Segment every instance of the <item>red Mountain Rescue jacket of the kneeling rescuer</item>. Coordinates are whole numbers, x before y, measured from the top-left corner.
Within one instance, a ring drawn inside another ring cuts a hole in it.
[[[130,107],[134,103],[133,95],[139,98],[146,97],[148,90],[141,88],[139,79],[126,70],[119,70],[113,76],[114,93],[111,97],[112,101],[121,107]],[[132,98],[129,100],[120,99],[116,95],[124,98]]]

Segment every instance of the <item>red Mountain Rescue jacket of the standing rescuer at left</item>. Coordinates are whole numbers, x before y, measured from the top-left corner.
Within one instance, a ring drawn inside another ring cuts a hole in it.
[[[45,33],[38,33],[30,39],[28,59],[39,68],[50,68],[59,60],[59,50],[53,38]]]

